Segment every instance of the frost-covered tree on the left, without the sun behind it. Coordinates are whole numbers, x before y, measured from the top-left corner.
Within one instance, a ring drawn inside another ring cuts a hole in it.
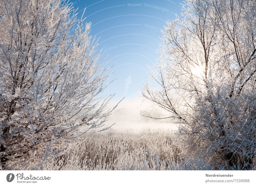
[[[104,125],[108,69],[90,23],[62,0],[0,0],[0,159],[22,167],[29,154]],[[103,99],[104,98],[104,99]],[[44,157],[45,158],[45,157]]]

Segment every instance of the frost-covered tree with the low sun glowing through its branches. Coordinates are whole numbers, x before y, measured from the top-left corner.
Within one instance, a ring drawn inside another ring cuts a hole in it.
[[[182,121],[179,137],[226,169],[254,169],[256,145],[256,2],[189,0],[168,21],[161,58],[152,70],[160,86],[143,96]],[[148,112],[145,116],[159,118]]]

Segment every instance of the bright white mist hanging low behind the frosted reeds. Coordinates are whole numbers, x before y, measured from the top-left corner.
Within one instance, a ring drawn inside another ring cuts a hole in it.
[[[114,103],[112,104],[114,105]],[[173,120],[172,118],[155,120],[140,115],[140,110],[145,109],[148,105],[149,103],[143,101],[142,99],[137,99],[135,101],[123,100],[114,110],[105,126],[109,126],[115,123],[111,128],[118,130],[178,129],[178,121]],[[151,112],[156,113],[159,116],[164,114],[160,113],[159,110],[154,109],[151,109]]]

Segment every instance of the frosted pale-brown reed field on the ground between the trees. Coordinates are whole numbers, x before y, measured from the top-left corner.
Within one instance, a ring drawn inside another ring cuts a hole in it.
[[[42,167],[40,167],[42,169]],[[182,148],[163,129],[107,130],[76,140],[44,170],[211,170],[198,159],[182,158]]]

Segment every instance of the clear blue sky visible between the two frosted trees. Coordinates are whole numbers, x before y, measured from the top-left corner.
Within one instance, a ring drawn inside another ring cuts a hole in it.
[[[140,87],[146,81],[148,65],[156,63],[160,30],[165,22],[180,15],[182,1],[132,1],[132,0],[76,0],[78,17],[86,11],[86,22],[92,22],[91,35],[100,37],[97,50],[102,49],[100,59],[113,66],[113,81],[105,94],[116,93],[114,100],[136,100]],[[104,59],[106,56],[107,59]]]

